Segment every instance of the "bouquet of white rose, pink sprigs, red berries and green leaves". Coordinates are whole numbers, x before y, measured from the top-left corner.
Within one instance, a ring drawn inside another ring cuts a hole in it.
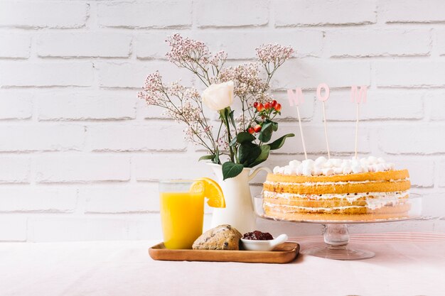
[[[138,96],[186,124],[188,141],[208,150],[199,160],[222,164],[223,180],[264,162],[271,150],[281,148],[287,137],[294,136],[289,133],[271,141],[278,130],[274,119],[282,106],[268,92],[274,73],[294,53],[291,47],[262,45],[256,49],[257,62],[225,67],[227,54],[220,51],[212,55],[203,42],[179,34],[169,36],[166,42],[171,47],[168,60],[193,72],[205,90],[200,94],[179,82],[167,85],[156,71],[146,77]],[[236,114],[232,109],[235,98],[241,108]],[[206,116],[204,106],[218,112],[216,126]]]

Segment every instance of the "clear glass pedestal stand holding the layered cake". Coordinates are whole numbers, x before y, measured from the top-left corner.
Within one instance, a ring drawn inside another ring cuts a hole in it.
[[[384,223],[384,222],[395,222],[395,221],[406,221],[409,219],[416,219],[421,216],[422,212],[422,197],[419,194],[410,193],[409,197],[403,199],[378,199],[378,202],[382,204],[382,206],[378,209],[382,209],[382,207],[387,207],[386,212],[390,212],[391,210],[396,209],[397,206],[402,207],[402,212],[392,213],[392,214],[380,214],[377,211],[377,207],[375,209],[365,209],[365,213],[361,214],[365,219],[360,219],[360,214],[353,215],[354,219],[344,219],[343,216],[331,216],[329,219],[321,218],[322,215],[313,215],[313,219],[311,215],[306,215],[302,219],[288,219],[285,216],[282,217],[271,217],[267,216],[264,211],[264,199],[262,195],[258,195],[254,197],[254,210],[257,216],[262,219],[269,219],[273,221],[286,221],[286,222],[295,222],[295,223],[313,223],[313,224],[323,224],[325,225],[325,231],[323,234],[323,239],[325,242],[325,246],[316,247],[316,248],[308,248],[301,253],[306,255],[328,258],[328,259],[336,259],[336,260],[360,260],[360,259],[368,259],[375,256],[375,253],[371,251],[365,251],[361,249],[349,248],[349,231],[348,224],[371,224],[371,223]],[[326,201],[314,200],[309,201],[309,206],[311,207],[321,207],[323,202],[323,207],[326,207]],[[363,201],[368,202],[368,201]],[[376,200],[369,201],[371,204],[375,204]],[[344,203],[344,202],[343,202]],[[282,206],[286,207],[286,204],[282,204]],[[333,207],[334,205],[332,205]],[[338,204],[336,204],[338,206]],[[343,205],[341,205],[343,206]],[[306,205],[307,207],[307,205]],[[345,205],[345,207],[348,207]],[[386,210],[386,209],[385,209]]]

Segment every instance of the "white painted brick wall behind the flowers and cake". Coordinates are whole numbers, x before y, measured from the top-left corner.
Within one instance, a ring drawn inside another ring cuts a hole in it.
[[[408,168],[424,214],[442,217],[378,229],[445,229],[444,9],[441,0],[0,1],[0,241],[161,237],[156,181],[212,176],[181,126],[136,98],[154,70],[200,87],[166,61],[176,32],[226,50],[230,63],[252,60],[262,43],[294,46],[272,86],[281,133],[299,131],[285,89],[304,87],[311,157],[325,153],[318,83],[331,87],[330,145],[344,157],[354,147],[348,87],[368,84],[360,153]],[[297,136],[266,164],[302,156]]]

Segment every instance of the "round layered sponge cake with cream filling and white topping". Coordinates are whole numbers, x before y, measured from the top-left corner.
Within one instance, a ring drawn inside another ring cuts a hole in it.
[[[292,160],[267,175],[263,208],[289,221],[401,219],[409,187],[408,170],[382,158]]]

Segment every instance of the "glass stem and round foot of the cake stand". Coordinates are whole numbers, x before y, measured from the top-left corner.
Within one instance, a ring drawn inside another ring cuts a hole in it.
[[[371,251],[358,250],[348,247],[349,231],[348,224],[325,224],[326,231],[323,234],[326,246],[321,248],[309,248],[304,253],[306,255],[336,259],[336,260],[360,260],[375,256]]]

